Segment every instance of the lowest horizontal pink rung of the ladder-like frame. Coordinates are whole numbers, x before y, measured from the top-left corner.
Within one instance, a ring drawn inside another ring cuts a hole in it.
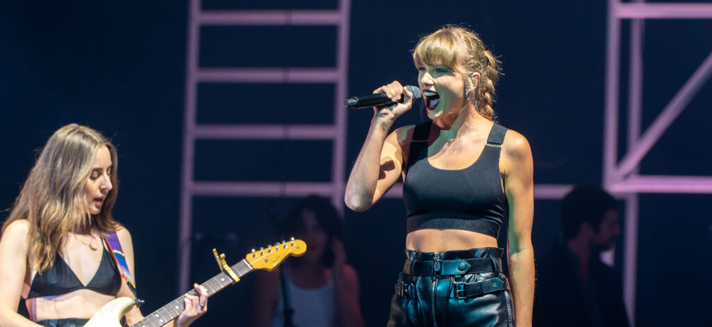
[[[300,182],[193,182],[187,190],[192,195],[235,197],[301,197],[309,194],[331,196],[332,183]]]

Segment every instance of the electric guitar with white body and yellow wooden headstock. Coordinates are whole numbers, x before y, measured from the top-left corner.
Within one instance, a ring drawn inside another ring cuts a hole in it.
[[[221,273],[204,282],[204,286],[208,290],[208,296],[212,296],[224,289],[226,286],[239,282],[240,277],[248,272],[256,269],[272,270],[277,267],[282,260],[290,255],[301,256],[307,250],[307,245],[303,240],[289,240],[270,245],[266,249],[260,248],[259,251],[252,250],[232,267],[225,262],[225,254],[218,255],[218,252],[213,249],[215,259],[220,266]],[[198,296],[198,291],[191,289],[187,294]],[[108,304],[105,304],[83,327],[121,327],[119,323],[133,306],[135,301],[128,297],[120,297],[113,299]],[[134,323],[131,327],[159,327],[163,326],[180,314],[185,309],[183,296],[174,299],[169,304],[162,306],[160,309],[153,311],[143,318],[141,321]]]

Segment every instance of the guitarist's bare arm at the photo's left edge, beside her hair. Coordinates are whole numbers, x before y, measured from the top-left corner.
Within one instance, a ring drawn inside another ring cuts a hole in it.
[[[27,270],[30,223],[15,220],[0,237],[0,327],[40,326],[17,313]]]

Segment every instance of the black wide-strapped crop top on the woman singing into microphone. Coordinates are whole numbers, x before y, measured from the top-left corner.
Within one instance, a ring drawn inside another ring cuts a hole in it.
[[[477,161],[459,170],[431,166],[430,128],[431,122],[418,124],[409,149],[403,184],[407,232],[469,230],[496,238],[507,205],[499,171],[506,127],[494,124]]]

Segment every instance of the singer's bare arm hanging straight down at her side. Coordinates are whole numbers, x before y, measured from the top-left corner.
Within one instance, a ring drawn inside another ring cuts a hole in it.
[[[507,248],[515,320],[517,326],[528,327],[532,323],[534,301],[532,153],[527,139],[512,130],[507,133],[502,149],[500,164],[509,203]]]

